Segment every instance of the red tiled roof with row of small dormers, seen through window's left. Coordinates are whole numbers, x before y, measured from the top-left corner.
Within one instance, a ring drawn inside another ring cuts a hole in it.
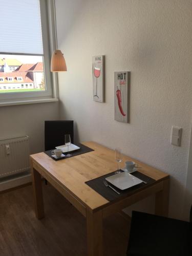
[[[4,81],[0,81],[0,83],[22,83],[22,82],[33,82],[31,78],[27,76],[28,72],[10,72],[10,73],[0,73],[0,77],[4,78]],[[7,77],[13,77],[12,81],[8,81]],[[22,77],[22,81],[18,81],[16,78],[17,77]]]

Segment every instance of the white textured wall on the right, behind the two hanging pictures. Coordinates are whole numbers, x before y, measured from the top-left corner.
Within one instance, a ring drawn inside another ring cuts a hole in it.
[[[56,0],[60,118],[93,140],[171,175],[169,214],[183,218],[192,108],[190,0]],[[92,56],[105,55],[105,103],[92,99]],[[114,120],[114,71],[131,71],[130,123]],[[172,125],[182,145],[170,144]]]

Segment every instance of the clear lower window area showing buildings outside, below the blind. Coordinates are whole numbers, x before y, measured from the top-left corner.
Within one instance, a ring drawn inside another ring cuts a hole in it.
[[[42,56],[0,54],[0,93],[45,90]]]

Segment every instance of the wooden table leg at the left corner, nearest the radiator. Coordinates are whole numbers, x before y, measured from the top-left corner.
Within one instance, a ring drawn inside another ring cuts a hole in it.
[[[41,176],[34,168],[31,169],[35,214],[37,219],[42,219],[44,218],[44,200],[42,198]]]

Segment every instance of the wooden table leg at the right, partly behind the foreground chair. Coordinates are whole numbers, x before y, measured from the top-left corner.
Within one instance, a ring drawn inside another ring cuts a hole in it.
[[[163,189],[155,196],[155,214],[159,216],[168,216],[169,199],[169,179],[163,181]]]

